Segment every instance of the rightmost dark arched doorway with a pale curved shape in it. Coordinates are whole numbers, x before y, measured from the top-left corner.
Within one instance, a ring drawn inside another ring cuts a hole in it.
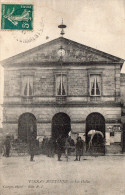
[[[92,150],[95,153],[105,153],[105,118],[103,115],[97,112],[93,112],[86,118],[86,146],[89,147],[91,139],[91,130],[95,130],[96,133],[92,138]],[[101,133],[100,133],[101,132]]]

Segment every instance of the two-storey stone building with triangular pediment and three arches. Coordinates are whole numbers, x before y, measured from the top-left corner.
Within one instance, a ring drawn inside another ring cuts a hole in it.
[[[107,153],[121,152],[123,62],[63,37],[2,61],[3,133],[26,142],[31,132],[55,139],[70,132],[88,145],[97,130]]]

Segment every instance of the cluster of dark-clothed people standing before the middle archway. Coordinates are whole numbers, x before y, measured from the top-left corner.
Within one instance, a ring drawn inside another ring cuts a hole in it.
[[[71,152],[75,151],[76,151],[75,161],[77,160],[80,161],[80,158],[83,155],[83,149],[84,141],[81,139],[80,136],[78,136],[76,144],[74,140],[71,138],[71,136],[68,136],[66,138],[59,136],[57,139],[44,138],[42,142],[43,154],[46,154],[48,157],[53,157],[54,154],[57,154],[58,161],[61,161],[61,156],[63,153],[68,158]]]

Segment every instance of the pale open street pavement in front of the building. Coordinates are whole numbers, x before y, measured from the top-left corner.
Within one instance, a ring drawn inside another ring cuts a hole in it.
[[[1,158],[1,195],[125,195],[125,156]]]

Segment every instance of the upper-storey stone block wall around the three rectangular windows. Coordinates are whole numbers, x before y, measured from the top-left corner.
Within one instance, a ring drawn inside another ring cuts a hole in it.
[[[96,70],[96,71],[95,71]],[[107,98],[118,97],[120,102],[120,66],[101,66],[94,67],[88,65],[77,68],[77,66],[65,67],[63,71],[67,74],[68,96],[71,97],[86,97],[89,96],[89,73],[101,73],[102,75],[102,96]],[[34,69],[6,69],[4,80],[4,96],[20,97],[22,87],[22,75],[33,75],[33,90],[34,96],[52,97],[55,96],[55,75],[56,72],[61,72],[60,68],[51,67],[34,68]],[[6,100],[6,99],[5,99]],[[11,99],[13,101],[13,99]],[[103,101],[103,99],[102,99]]]

